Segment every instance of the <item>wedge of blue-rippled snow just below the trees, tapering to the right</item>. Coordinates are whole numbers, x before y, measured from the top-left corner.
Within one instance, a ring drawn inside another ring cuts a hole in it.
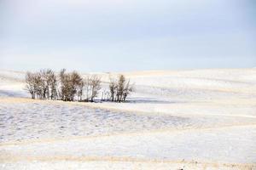
[[[61,101],[23,99],[24,103],[13,103],[11,100],[0,99],[1,142],[233,126],[255,122],[247,116],[237,120],[236,116],[139,114],[90,108],[88,105],[68,105]]]

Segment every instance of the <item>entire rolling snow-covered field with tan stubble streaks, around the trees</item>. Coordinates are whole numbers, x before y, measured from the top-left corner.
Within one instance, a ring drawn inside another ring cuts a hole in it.
[[[256,169],[256,69],[124,74],[117,104],[32,100],[0,71],[0,169]]]

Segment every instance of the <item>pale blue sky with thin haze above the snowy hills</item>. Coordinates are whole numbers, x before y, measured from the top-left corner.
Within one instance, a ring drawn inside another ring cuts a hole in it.
[[[0,0],[0,69],[256,66],[253,0]]]

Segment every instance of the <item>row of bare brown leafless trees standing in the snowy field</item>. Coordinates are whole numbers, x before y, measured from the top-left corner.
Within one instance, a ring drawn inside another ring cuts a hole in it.
[[[77,71],[59,74],[47,69],[26,72],[26,91],[32,99],[61,99],[63,101],[91,101],[98,97],[102,89],[101,77],[90,75],[81,77]],[[110,78],[108,90],[102,92],[102,100],[123,102],[134,91],[134,86],[124,75]]]

